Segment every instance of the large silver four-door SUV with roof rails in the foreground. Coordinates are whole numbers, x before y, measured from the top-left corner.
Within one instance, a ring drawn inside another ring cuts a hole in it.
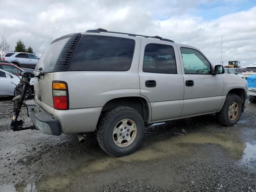
[[[248,103],[246,80],[224,74],[197,48],[159,36],[103,29],[52,42],[34,74],[29,116],[52,135],[96,130],[112,156],[134,152],[145,124],[216,113],[233,126]]]

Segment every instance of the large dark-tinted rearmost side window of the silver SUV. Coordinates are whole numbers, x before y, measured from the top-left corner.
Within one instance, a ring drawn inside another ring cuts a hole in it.
[[[127,38],[86,36],[76,48],[71,71],[128,71],[135,41]]]

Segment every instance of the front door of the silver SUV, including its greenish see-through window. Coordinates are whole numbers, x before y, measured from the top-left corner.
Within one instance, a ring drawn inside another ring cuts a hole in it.
[[[223,79],[212,75],[213,65],[194,48],[178,46],[184,77],[182,117],[216,112],[222,104]]]

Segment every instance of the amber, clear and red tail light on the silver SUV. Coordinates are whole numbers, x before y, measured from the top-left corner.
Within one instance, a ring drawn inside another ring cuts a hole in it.
[[[68,109],[68,85],[66,82],[52,82],[52,100],[54,109]]]

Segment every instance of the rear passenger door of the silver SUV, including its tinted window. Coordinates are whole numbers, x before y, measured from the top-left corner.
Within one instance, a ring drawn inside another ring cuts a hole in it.
[[[172,42],[141,40],[140,95],[150,102],[152,122],[178,118],[182,114],[184,81],[176,56],[178,50]]]

